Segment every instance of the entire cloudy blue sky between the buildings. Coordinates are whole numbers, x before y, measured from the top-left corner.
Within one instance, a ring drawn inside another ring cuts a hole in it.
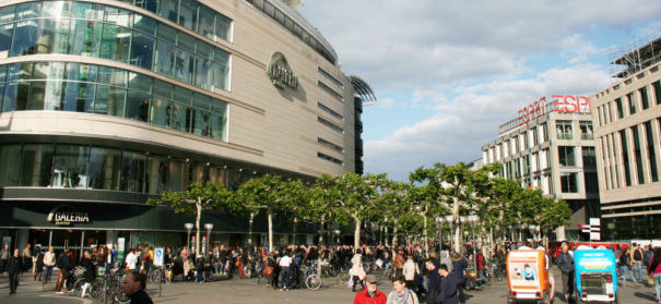
[[[342,70],[375,90],[365,170],[406,180],[482,156],[542,96],[607,86],[611,53],[661,35],[659,0],[307,0]]]

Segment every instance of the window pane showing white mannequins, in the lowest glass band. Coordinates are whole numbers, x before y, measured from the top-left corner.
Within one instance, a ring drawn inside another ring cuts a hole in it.
[[[52,187],[87,187],[87,161],[90,148],[86,146],[58,145],[52,170]]]

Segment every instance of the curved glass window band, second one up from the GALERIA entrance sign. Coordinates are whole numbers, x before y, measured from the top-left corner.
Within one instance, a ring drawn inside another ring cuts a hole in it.
[[[227,141],[227,104],[153,77],[76,62],[0,65],[2,112],[115,115]]]

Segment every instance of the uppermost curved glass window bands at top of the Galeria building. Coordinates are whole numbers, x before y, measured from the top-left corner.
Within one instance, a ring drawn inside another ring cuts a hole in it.
[[[176,19],[205,37],[219,32],[229,37],[232,22],[223,15],[197,4],[181,4],[179,13],[172,14],[165,9],[170,2],[178,3],[170,0],[160,4],[167,19]],[[42,53],[103,58],[203,89],[229,90],[227,51],[150,16],[88,2],[39,1],[1,8],[0,58]]]

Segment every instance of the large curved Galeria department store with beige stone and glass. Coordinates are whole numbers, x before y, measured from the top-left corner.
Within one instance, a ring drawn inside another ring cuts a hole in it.
[[[361,113],[374,93],[280,0],[0,5],[7,242],[184,244],[193,219],[149,197],[191,182],[363,171]],[[202,222],[214,242],[245,242],[247,219]],[[256,231],[260,243],[265,227]]]

